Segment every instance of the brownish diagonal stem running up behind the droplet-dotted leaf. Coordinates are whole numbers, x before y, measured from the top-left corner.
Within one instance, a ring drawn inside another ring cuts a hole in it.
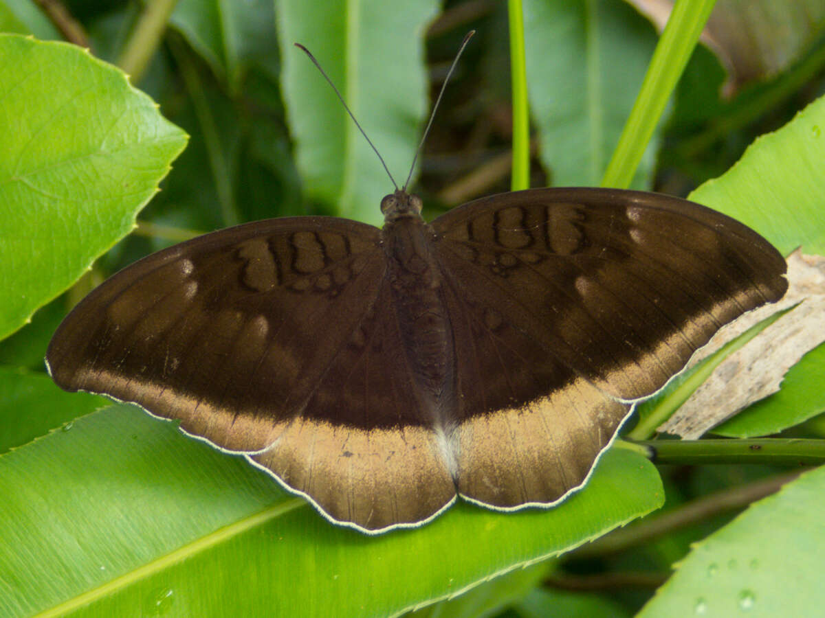
[[[672,508],[665,513],[645,517],[640,522],[626,528],[618,528],[592,543],[582,545],[568,554],[568,557],[589,558],[614,554],[629,547],[643,545],[660,536],[670,534],[672,531],[744,508],[752,502],[774,494],[782,485],[794,480],[799,474],[800,471],[786,472],[709,494]]]

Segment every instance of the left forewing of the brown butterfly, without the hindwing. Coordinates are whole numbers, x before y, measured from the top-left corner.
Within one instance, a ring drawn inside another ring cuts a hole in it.
[[[378,293],[379,231],[344,219],[256,222],[149,255],[55,333],[55,382],[133,401],[238,452],[271,444]],[[319,334],[323,333],[323,337]]]

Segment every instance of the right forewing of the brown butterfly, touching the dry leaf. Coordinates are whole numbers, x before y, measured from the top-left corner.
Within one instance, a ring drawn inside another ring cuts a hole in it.
[[[612,396],[661,388],[716,330],[785,293],[785,260],[731,218],[634,191],[528,190],[433,222],[440,260]]]

